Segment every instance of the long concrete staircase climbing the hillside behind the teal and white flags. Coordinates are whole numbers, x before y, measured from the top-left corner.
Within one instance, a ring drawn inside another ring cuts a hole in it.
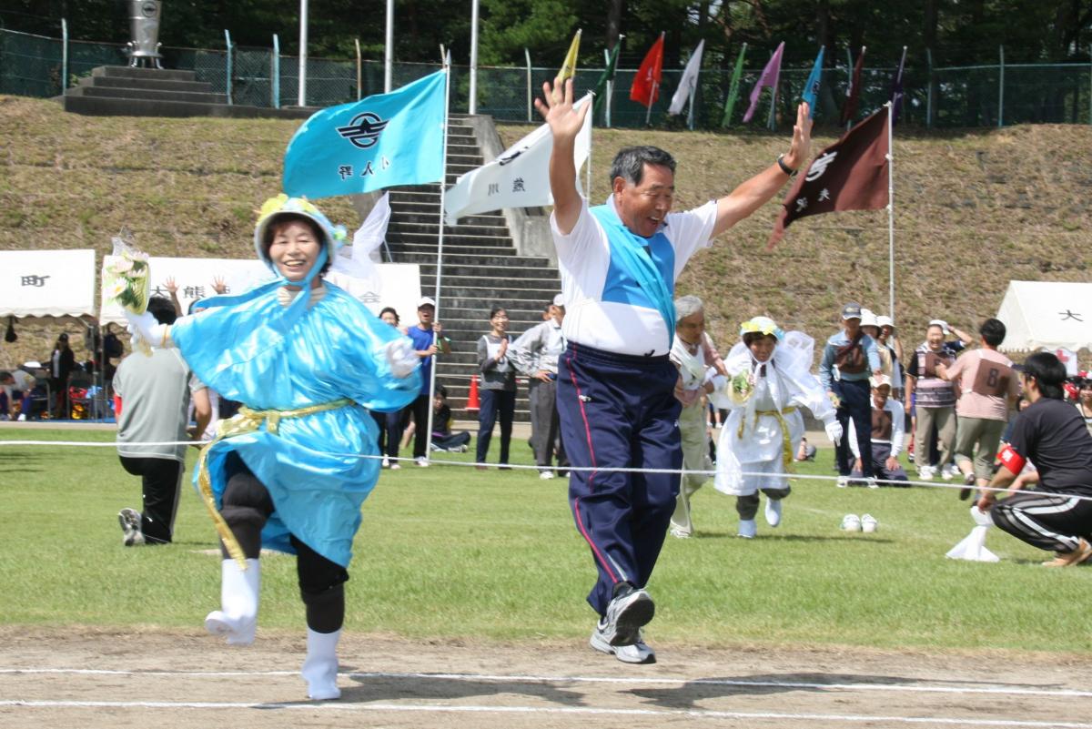
[[[447,184],[483,164],[473,129],[462,117],[448,126]],[[420,264],[424,296],[436,291],[440,190],[438,184],[391,189],[387,241],[395,263]],[[443,275],[438,319],[451,339],[452,354],[437,360],[437,382],[448,390],[456,419],[465,413],[471,377],[477,373],[477,340],[489,331],[489,311],[501,307],[519,336],[542,322],[543,308],[561,290],[554,263],[545,256],[519,255],[503,215],[474,215],[443,228]],[[415,312],[400,312],[412,323]],[[527,419],[527,389],[520,378],[515,419]]]

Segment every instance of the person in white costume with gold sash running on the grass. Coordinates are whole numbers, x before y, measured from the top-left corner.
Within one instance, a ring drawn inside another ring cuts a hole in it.
[[[799,408],[822,420],[834,443],[842,438],[842,427],[810,372],[815,339],[803,332],[786,334],[767,316],[744,322],[739,335],[743,342],[725,360],[731,379],[710,398],[731,410],[716,446],[715,488],[736,497],[739,536],[749,539],[758,531],[759,490],[768,499],[767,523],[781,523],[781,500],[792,490],[785,474],[804,435]]]

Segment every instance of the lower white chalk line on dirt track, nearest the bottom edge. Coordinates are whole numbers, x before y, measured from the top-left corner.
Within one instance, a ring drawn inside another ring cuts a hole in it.
[[[351,704],[332,702],[109,702],[109,701],[0,701],[2,707],[26,708],[193,708],[193,709],[305,709],[308,712],[417,712],[468,714],[568,714],[597,716],[689,717],[696,719],[779,719],[797,721],[886,721],[972,727],[1058,727],[1092,729],[1076,721],[1032,721],[1021,719],[972,719],[958,717],[885,716],[864,714],[797,714],[782,712],[723,712],[716,709],[596,708],[591,706],[479,706],[453,704]]]

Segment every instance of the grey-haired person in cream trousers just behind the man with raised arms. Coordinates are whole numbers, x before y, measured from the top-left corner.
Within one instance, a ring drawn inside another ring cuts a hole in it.
[[[675,299],[675,339],[668,357],[679,371],[675,397],[682,404],[679,431],[682,435],[682,468],[687,473],[679,485],[679,495],[672,515],[670,534],[685,539],[693,534],[690,497],[709,479],[713,468],[709,456],[709,420],[705,395],[724,384],[728,373],[705,333],[705,308],[696,296]]]

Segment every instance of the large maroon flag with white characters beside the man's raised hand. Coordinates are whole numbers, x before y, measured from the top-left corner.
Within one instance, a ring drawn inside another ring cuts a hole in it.
[[[797,176],[770,235],[773,248],[793,220],[888,204],[888,110],[881,108],[823,150]]]

